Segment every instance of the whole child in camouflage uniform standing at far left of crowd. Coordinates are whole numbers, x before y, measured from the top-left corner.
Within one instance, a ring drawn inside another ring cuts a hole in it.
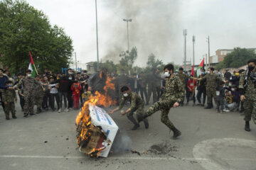
[[[4,101],[4,113],[6,115],[6,120],[10,120],[9,113],[11,112],[12,118],[16,119],[16,111],[15,111],[15,106],[14,106],[14,99],[15,102],[17,103],[17,96],[16,92],[14,89],[11,89],[12,82],[10,80],[6,81],[6,87],[7,89],[4,89],[2,91],[2,98]]]

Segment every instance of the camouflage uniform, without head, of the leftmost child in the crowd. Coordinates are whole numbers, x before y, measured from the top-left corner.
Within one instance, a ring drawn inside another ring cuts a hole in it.
[[[4,113],[6,118],[9,118],[9,113],[11,112],[12,117],[15,117],[15,105],[14,99],[17,100],[16,92],[14,89],[5,89],[2,91],[2,99],[4,102],[7,102],[4,108]]]

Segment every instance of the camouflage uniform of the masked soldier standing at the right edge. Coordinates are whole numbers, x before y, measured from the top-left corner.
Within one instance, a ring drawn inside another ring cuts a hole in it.
[[[252,72],[251,72],[252,73]],[[239,81],[239,89],[242,89],[242,94],[245,95],[245,121],[250,121],[251,117],[256,124],[256,83],[253,83],[250,76],[247,76],[248,71],[242,72]],[[254,73],[256,74],[256,73]],[[243,86],[246,80],[246,88]]]

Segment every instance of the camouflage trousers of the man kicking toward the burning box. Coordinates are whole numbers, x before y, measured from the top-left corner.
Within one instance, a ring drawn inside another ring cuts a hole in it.
[[[149,109],[146,111],[147,115],[153,115],[156,113],[156,111],[161,111],[161,122],[164,123],[168,128],[173,128],[174,124],[171,123],[171,120],[169,120],[168,114],[170,109],[174,106],[174,103],[176,101],[170,101],[170,100],[162,100],[157,101],[152,106],[149,107]]]

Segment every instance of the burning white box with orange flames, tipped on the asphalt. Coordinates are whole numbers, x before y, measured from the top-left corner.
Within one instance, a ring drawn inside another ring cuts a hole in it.
[[[116,103],[107,96],[108,89],[114,89],[110,78],[107,78],[104,87],[105,94],[96,91],[95,96],[85,102],[76,118],[78,149],[91,157],[107,157],[118,130],[110,115],[96,106],[107,107]]]

